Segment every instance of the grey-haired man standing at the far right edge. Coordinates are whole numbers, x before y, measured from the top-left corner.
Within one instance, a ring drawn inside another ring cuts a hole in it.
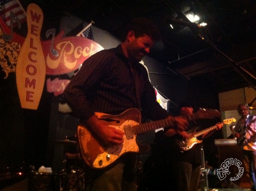
[[[249,174],[252,183],[251,191],[256,191],[256,116],[251,114],[247,103],[239,104],[237,112],[241,118],[234,128],[235,137],[243,151],[245,172]]]

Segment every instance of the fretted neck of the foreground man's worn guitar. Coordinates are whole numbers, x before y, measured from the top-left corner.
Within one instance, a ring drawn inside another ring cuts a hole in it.
[[[201,118],[197,113],[191,114],[189,116],[182,116],[182,118],[186,119],[187,121],[196,120],[198,118]],[[175,124],[173,118],[166,118],[163,120],[158,121],[151,121],[140,125],[135,125],[132,127],[133,133],[138,135],[141,133],[146,133],[151,130],[160,129],[160,128],[166,128],[166,127],[173,127]]]

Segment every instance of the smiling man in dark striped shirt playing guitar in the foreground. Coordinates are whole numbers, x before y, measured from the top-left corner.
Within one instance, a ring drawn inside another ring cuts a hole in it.
[[[105,146],[122,144],[124,132],[106,125],[94,112],[117,115],[137,108],[151,120],[172,121],[171,128],[178,133],[186,129],[185,119],[170,116],[156,101],[147,70],[139,63],[158,39],[160,32],[150,20],[133,19],[124,30],[121,44],[86,59],[64,90],[71,114],[86,124]],[[115,164],[96,169],[86,190],[137,190],[135,161],[134,153],[127,153]]]

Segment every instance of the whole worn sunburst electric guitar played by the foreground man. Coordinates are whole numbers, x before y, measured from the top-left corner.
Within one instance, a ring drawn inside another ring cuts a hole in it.
[[[125,133],[122,144],[106,146],[84,123],[79,123],[77,135],[82,158],[89,167],[97,169],[108,167],[125,153],[139,152],[140,149],[136,143],[137,135],[175,125],[173,118],[171,120],[168,118],[141,124],[141,113],[136,108],[127,109],[119,115],[109,115],[100,112],[96,112],[95,115],[106,125],[115,127]],[[220,112],[217,110],[200,109],[198,112],[185,118],[187,121],[191,121],[199,118],[215,117],[220,117]]]

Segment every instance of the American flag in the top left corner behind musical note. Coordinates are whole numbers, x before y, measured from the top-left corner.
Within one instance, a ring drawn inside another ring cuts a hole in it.
[[[11,17],[10,11],[12,11],[20,20],[20,23],[24,23],[27,20],[26,13],[18,0],[0,0],[1,17],[4,22],[10,26]],[[17,22],[13,22],[13,27],[17,25]]]

